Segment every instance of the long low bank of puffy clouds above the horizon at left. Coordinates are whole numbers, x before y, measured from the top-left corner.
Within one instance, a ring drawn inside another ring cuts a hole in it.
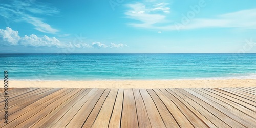
[[[101,42],[92,42],[87,44],[86,42],[79,43],[65,43],[61,42],[55,37],[48,37],[46,35],[38,37],[35,34],[29,36],[25,35],[20,37],[18,31],[12,30],[9,27],[6,29],[0,29],[0,46],[29,46],[29,47],[57,47],[57,48],[121,48],[128,47],[126,44],[111,43],[106,45]]]

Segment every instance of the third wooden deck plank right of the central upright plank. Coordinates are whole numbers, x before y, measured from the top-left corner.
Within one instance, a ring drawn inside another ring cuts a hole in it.
[[[163,101],[159,98],[157,94],[159,94],[159,89],[147,89],[147,92],[152,97],[153,101],[155,102],[157,109],[162,117],[162,120],[166,127],[179,127],[177,122],[175,121],[173,115],[168,111]]]

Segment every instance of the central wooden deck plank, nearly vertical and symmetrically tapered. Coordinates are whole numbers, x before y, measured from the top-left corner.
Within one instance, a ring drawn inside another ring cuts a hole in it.
[[[121,127],[139,127],[132,89],[124,89]]]

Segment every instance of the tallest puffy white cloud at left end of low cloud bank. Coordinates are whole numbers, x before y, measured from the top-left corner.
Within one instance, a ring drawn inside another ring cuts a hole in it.
[[[17,45],[20,37],[18,31],[13,31],[11,28],[0,29],[0,44],[2,45]]]

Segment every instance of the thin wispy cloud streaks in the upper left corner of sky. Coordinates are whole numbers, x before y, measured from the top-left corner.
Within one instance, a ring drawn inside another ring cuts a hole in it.
[[[40,15],[56,15],[60,12],[46,3],[14,1],[11,4],[0,4],[0,11],[7,25],[11,22],[27,22],[40,32],[54,34],[59,31],[44,22],[43,18],[38,18]]]

